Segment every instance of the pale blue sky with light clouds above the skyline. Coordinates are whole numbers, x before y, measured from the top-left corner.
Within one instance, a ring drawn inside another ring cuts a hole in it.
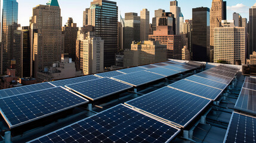
[[[29,25],[29,17],[32,16],[32,8],[39,4],[46,4],[48,0],[17,0],[18,2],[18,23],[21,26]],[[73,17],[78,26],[82,26],[83,11],[90,7],[90,2],[93,0],[58,0],[61,8],[61,16],[63,17],[63,25],[68,17]],[[143,8],[150,11],[150,19],[154,17],[155,10],[159,8],[169,11],[169,0],[113,0],[116,1],[121,11],[124,13],[134,12],[140,15]],[[240,13],[242,17],[249,17],[249,8],[255,4],[254,0],[226,0],[227,1],[227,19],[232,19],[234,12]],[[212,0],[178,0],[178,5],[185,19],[192,18],[192,8],[208,7],[211,8]],[[151,21],[151,20],[150,20]]]

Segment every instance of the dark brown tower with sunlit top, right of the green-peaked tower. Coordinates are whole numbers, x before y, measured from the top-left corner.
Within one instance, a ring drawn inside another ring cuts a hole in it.
[[[64,54],[69,54],[72,61],[76,60],[76,38],[78,36],[78,27],[73,23],[73,18],[69,18],[64,27],[62,27],[64,34]]]

